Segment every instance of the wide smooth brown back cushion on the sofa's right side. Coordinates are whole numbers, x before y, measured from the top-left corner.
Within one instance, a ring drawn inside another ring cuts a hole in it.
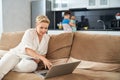
[[[87,61],[120,63],[120,36],[76,32],[71,57]]]

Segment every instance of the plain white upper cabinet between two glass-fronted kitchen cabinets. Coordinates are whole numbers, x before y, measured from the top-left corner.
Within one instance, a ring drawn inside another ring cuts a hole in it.
[[[69,8],[87,8],[88,0],[69,0]]]

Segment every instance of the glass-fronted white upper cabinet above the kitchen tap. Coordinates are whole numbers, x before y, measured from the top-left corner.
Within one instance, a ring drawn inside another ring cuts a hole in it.
[[[88,0],[88,9],[109,8],[109,0]]]

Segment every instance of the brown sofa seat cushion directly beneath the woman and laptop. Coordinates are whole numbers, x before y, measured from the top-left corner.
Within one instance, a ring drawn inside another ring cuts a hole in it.
[[[80,79],[94,80],[94,78],[92,77],[76,73],[43,79],[42,77],[38,76],[35,73],[18,73],[18,72],[9,72],[9,74],[7,74],[3,80],[80,80]]]

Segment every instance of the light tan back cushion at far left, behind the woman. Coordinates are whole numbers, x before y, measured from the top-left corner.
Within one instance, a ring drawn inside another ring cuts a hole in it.
[[[9,50],[19,44],[24,32],[4,32],[1,35],[0,49]]]

